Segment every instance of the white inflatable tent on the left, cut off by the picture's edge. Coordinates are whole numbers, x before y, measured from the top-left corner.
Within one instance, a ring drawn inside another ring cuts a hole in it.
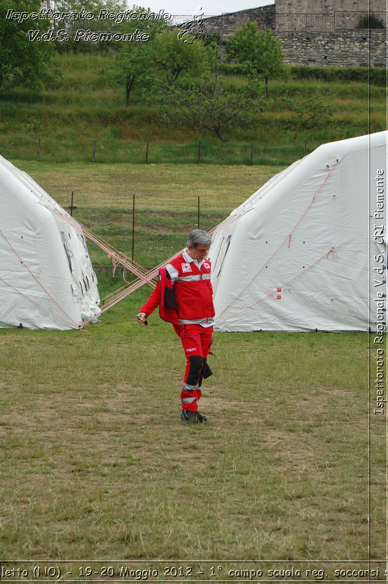
[[[81,227],[0,157],[0,328],[71,329],[99,314]]]

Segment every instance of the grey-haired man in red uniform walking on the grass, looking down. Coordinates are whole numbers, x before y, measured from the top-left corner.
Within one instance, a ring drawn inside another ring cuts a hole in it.
[[[198,412],[198,399],[202,395],[202,379],[212,374],[207,363],[215,315],[211,265],[206,259],[210,244],[206,231],[191,231],[187,248],[160,269],[158,284],[137,315],[139,322],[145,322],[159,305],[160,317],[171,322],[179,335],[187,358],[180,417],[194,424],[207,420]]]

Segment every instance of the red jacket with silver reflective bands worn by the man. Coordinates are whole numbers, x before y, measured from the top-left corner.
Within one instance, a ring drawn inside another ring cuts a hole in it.
[[[214,317],[210,262],[205,259],[199,269],[194,262],[186,263],[180,254],[170,264],[178,272],[174,284],[166,268],[160,269],[158,284],[139,312],[145,312],[148,316],[159,305],[160,317],[176,325],[179,320]]]

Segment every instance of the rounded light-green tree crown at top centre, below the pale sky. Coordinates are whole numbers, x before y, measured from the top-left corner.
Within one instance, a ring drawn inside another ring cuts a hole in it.
[[[183,43],[175,31],[163,30],[156,34],[152,43],[152,58],[157,67],[165,72],[167,83],[171,85],[181,73],[201,73],[205,58],[204,45],[198,39],[193,43]]]

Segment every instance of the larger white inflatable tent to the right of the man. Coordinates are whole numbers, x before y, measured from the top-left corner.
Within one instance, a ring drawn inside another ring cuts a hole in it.
[[[386,224],[374,214],[384,197],[377,179],[386,192],[387,138],[384,131],[321,145],[215,229],[208,257],[216,329],[368,331],[376,318],[371,260],[383,252],[387,262],[385,238],[373,237],[373,226]],[[386,211],[385,198],[380,216]]]

